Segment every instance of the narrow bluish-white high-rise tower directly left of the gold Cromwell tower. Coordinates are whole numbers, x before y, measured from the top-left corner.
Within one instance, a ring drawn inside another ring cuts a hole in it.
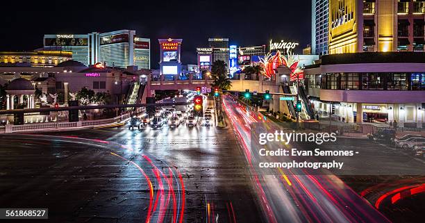
[[[313,54],[328,54],[328,6],[328,0],[312,2],[311,53]]]

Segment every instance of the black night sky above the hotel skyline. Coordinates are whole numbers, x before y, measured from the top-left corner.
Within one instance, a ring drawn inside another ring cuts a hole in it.
[[[1,6],[0,51],[42,47],[44,34],[87,34],[132,29],[151,39],[151,67],[158,67],[158,38],[182,38],[182,63],[196,64],[196,47],[208,38],[253,46],[311,41],[311,0],[215,1],[6,1]],[[10,4],[8,7],[7,4]]]

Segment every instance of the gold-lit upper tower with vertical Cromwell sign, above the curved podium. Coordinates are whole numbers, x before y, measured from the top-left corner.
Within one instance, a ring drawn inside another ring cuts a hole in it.
[[[424,51],[425,2],[329,0],[329,53]]]

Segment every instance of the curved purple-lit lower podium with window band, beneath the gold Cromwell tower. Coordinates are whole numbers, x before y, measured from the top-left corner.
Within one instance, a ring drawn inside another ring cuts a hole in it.
[[[425,126],[425,53],[362,52],[322,56],[307,66],[315,112],[342,122]]]

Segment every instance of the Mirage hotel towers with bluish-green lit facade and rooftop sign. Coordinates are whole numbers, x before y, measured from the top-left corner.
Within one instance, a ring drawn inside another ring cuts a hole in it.
[[[84,35],[44,35],[44,49],[71,51],[72,60],[84,65],[104,63],[110,67],[138,66],[150,69],[150,40],[135,31],[120,30]]]

